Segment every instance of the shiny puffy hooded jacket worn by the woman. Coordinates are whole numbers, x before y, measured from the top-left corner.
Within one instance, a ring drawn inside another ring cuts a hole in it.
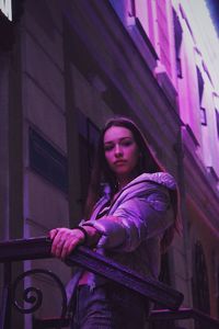
[[[119,192],[105,216],[96,219],[110,200],[107,193],[95,205],[91,218],[80,225],[93,226],[102,234],[96,252],[139,274],[158,277],[160,241],[174,222],[169,192],[175,189],[174,178],[166,172],[142,173]],[[116,220],[110,216],[116,217]],[[97,284],[94,283],[95,276],[91,275],[91,285]],[[79,277],[78,274],[70,282],[68,294]]]

